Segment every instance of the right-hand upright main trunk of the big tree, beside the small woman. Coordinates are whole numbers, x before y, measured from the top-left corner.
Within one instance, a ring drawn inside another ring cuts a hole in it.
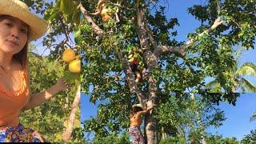
[[[148,41],[148,35],[146,31],[146,18],[142,7],[138,6],[137,11],[137,22],[138,22],[138,38],[142,50],[144,50],[143,58],[145,59],[146,66],[149,68],[149,100],[152,101],[152,104],[158,106],[158,96],[157,96],[157,80],[154,79],[152,70],[158,67],[157,58],[150,51],[150,44]],[[145,117],[146,123],[146,142],[149,144],[158,143],[158,129],[157,129],[157,120],[153,118],[152,114],[146,114]]]

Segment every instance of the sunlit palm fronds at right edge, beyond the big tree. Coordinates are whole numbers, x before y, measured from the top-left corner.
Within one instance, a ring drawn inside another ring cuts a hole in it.
[[[242,50],[244,50],[244,48],[240,47],[235,54],[235,60],[237,63],[238,59],[241,57]],[[256,76],[256,65],[254,63],[245,62],[240,67],[235,66],[232,71],[232,78],[234,78],[235,82],[234,87],[232,88],[233,92],[236,92],[238,88],[241,88],[242,92],[246,93],[256,92],[256,86],[252,82],[250,82],[250,80],[244,78],[244,76]],[[216,79],[214,79],[212,82],[207,83],[206,86],[210,87],[210,89],[214,92],[222,92],[220,83],[218,83]]]

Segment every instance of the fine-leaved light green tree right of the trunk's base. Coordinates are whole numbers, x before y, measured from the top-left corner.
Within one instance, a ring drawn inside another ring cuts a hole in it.
[[[207,127],[222,126],[226,119],[223,111],[201,98],[199,95],[190,98],[190,94],[186,94],[183,98],[171,97],[159,106],[155,117],[158,126],[162,127],[161,133],[168,135],[167,139],[182,138],[185,142],[203,143]]]

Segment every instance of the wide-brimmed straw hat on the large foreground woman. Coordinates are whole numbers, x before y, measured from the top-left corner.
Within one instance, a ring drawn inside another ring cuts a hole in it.
[[[19,0],[0,0],[0,15],[10,15],[30,26],[30,41],[40,38],[46,33],[46,20],[32,14],[24,2]]]

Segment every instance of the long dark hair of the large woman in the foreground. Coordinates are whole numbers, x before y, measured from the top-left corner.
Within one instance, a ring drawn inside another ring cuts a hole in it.
[[[10,15],[0,15],[0,22],[3,19],[6,19],[8,17],[12,17]],[[30,38],[30,29],[27,35],[27,38]],[[29,42],[26,42],[26,45],[23,47],[23,49],[21,51],[19,51],[17,54],[14,54],[13,58],[15,61],[19,62],[22,65],[23,69],[26,69],[27,66],[27,53],[28,53],[28,46],[29,46]]]

